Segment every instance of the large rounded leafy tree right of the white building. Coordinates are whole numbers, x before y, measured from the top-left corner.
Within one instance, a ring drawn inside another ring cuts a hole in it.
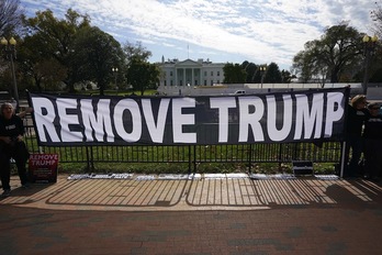
[[[341,75],[360,66],[361,38],[362,34],[346,22],[328,27],[319,40],[307,42],[305,51],[297,53],[293,69],[305,80],[328,74],[330,82],[338,82]]]

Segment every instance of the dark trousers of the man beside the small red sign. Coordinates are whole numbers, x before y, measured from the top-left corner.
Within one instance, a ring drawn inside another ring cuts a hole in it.
[[[11,166],[10,159],[13,158],[18,167],[18,174],[21,185],[29,181],[25,164],[29,158],[29,152],[24,142],[16,142],[12,145],[2,145],[0,149],[0,177],[2,189],[10,189]]]

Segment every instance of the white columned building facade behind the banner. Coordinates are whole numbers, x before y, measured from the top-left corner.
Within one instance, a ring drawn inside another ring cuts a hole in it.
[[[224,63],[212,63],[209,59],[171,59],[159,63],[161,69],[159,86],[213,86],[224,80]]]

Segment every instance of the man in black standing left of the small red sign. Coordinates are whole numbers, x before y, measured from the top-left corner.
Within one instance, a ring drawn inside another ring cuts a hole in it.
[[[29,179],[26,176],[26,160],[29,152],[23,141],[24,124],[20,117],[14,114],[14,109],[11,103],[1,104],[0,114],[0,177],[2,189],[4,190],[2,197],[10,196],[10,159],[13,158],[18,174],[23,187],[29,187]]]

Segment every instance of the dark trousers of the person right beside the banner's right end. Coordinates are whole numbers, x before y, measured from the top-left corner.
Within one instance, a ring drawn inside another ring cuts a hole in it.
[[[349,153],[351,148],[351,157]],[[363,151],[363,138],[358,135],[348,136],[345,148],[345,177],[356,177],[360,174],[359,163]]]

